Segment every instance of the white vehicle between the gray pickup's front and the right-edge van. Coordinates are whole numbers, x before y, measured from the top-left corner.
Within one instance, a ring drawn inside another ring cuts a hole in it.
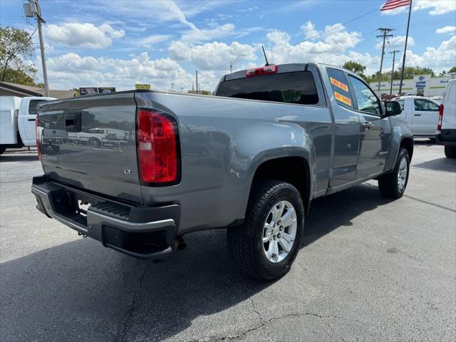
[[[415,138],[430,138],[435,140],[435,128],[439,120],[440,103],[423,96],[400,96],[398,101],[403,112],[403,118]]]

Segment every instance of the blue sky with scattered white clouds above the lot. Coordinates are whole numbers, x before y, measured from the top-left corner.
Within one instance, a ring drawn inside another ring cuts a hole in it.
[[[33,33],[21,0],[0,1],[1,26]],[[407,7],[380,12],[385,0],[123,1],[41,0],[46,65],[51,89],[114,86],[186,92],[195,82],[214,90],[233,71],[269,63],[357,61],[372,74],[380,68],[380,27],[393,28],[383,71],[405,43]],[[456,66],[456,1],[414,0],[407,66],[437,72]],[[38,46],[38,33],[33,33]],[[31,59],[38,68],[37,49]]]

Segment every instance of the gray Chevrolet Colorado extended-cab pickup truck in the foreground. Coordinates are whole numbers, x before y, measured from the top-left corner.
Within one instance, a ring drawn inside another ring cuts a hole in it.
[[[143,259],[226,227],[234,264],[276,279],[312,199],[371,179],[382,195],[403,195],[413,135],[400,111],[350,71],[314,63],[231,73],[214,96],[53,100],[38,106],[44,175],[32,192],[43,214]]]

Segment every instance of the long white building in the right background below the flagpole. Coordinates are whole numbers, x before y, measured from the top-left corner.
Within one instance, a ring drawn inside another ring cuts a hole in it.
[[[447,83],[455,75],[444,77],[431,77],[430,75],[417,75],[413,79],[403,80],[402,92],[406,94],[418,94],[424,96],[440,96],[442,95]],[[371,88],[378,95],[390,93],[390,81],[380,82],[380,90],[378,91],[378,82],[371,82]],[[393,94],[399,93],[400,80],[393,81]]]

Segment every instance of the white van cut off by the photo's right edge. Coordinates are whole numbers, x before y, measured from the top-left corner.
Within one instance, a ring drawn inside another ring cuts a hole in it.
[[[445,146],[445,155],[456,158],[456,80],[450,81],[443,93],[435,136],[437,144]]]

